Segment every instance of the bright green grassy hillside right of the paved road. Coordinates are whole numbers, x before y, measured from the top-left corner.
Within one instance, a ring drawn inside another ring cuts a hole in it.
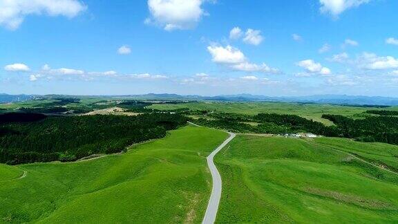
[[[223,184],[217,222],[397,222],[398,176],[330,144],[369,159],[398,153],[350,140],[238,136],[216,157]]]

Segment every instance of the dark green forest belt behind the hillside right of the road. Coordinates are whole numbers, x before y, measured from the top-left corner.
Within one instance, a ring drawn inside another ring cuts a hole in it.
[[[238,133],[299,133],[310,132],[327,137],[353,138],[362,142],[385,142],[398,144],[398,117],[370,116],[364,119],[352,119],[343,115],[323,115],[322,118],[334,123],[326,126],[321,122],[307,120],[298,115],[259,113],[258,115],[240,115],[235,113],[207,113],[196,111],[191,114],[206,115],[208,119],[192,120],[196,124]],[[254,122],[256,125],[251,125]]]

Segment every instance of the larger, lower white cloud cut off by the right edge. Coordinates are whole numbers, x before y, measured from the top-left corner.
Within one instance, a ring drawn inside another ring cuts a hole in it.
[[[373,53],[363,53],[357,63],[359,67],[370,70],[385,70],[398,68],[398,59],[392,56],[377,56]]]

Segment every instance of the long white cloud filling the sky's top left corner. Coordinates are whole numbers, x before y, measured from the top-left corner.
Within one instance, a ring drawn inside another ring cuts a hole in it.
[[[86,6],[79,0],[1,0],[0,25],[15,30],[28,15],[73,18],[84,10]]]

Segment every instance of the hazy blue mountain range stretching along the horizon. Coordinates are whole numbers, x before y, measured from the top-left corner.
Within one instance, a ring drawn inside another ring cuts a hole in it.
[[[66,97],[66,95],[63,95]],[[8,95],[0,94],[0,103],[20,102],[35,99],[39,95]],[[43,96],[41,96],[43,97]],[[46,97],[46,96],[44,96]],[[61,97],[61,95],[48,95],[48,97]],[[70,97],[70,95],[68,95]],[[76,96],[87,97],[87,96]],[[94,96],[91,96],[94,97]],[[310,95],[302,97],[269,97],[266,95],[217,95],[213,97],[201,95],[177,95],[177,94],[155,94],[144,95],[98,95],[97,97],[115,97],[132,98],[137,100],[216,100],[231,102],[301,102],[316,104],[346,104],[346,105],[379,105],[379,106],[398,106],[397,97],[379,97],[379,96],[353,96],[353,95]]]

